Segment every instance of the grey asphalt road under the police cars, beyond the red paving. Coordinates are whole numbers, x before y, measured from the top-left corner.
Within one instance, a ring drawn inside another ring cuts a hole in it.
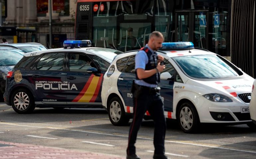
[[[130,123],[129,123],[130,124]],[[167,121],[166,155],[170,158],[255,158],[256,132],[247,125],[204,125],[186,134],[176,121]],[[17,114],[0,103],[0,141],[90,151],[125,157],[129,125],[113,126],[103,109],[36,108]],[[153,156],[154,123],[144,121],[138,133],[137,154]]]

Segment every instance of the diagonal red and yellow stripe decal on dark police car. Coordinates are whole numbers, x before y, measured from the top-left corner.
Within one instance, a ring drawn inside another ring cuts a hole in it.
[[[102,78],[103,74],[101,74],[100,77],[92,74],[81,92],[72,100],[72,102],[95,102],[100,90]]]

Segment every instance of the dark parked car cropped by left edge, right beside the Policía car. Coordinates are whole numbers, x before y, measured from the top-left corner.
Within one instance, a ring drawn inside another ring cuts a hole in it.
[[[24,52],[20,49],[0,47],[0,100],[3,100],[8,72],[20,61]]]

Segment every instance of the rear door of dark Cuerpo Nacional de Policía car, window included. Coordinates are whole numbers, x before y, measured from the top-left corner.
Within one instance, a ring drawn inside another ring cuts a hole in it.
[[[30,72],[36,104],[66,104],[65,54],[45,53]]]

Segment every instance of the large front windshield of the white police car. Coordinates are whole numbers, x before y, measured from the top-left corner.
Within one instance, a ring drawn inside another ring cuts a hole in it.
[[[217,55],[191,55],[173,58],[192,78],[217,79],[238,77],[243,73]]]

